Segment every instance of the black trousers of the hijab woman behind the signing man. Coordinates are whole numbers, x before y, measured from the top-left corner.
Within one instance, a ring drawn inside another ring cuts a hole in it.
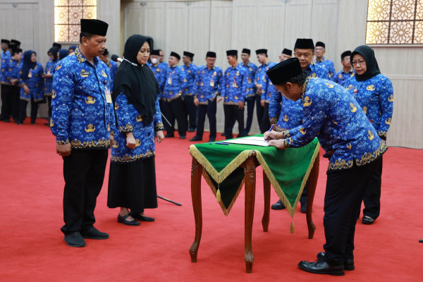
[[[383,159],[377,164],[374,173],[369,179],[364,192],[364,209],[363,215],[377,219],[381,212],[381,184],[382,184],[382,166]]]

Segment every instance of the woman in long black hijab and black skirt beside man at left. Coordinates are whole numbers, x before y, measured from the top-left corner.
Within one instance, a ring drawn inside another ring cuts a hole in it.
[[[126,40],[113,89],[120,132],[115,133],[111,147],[107,206],[121,207],[118,222],[130,226],[154,221],[145,216],[144,209],[157,207],[154,135],[161,142],[164,134],[157,99],[159,83],[145,65],[149,45],[149,39],[142,35]]]

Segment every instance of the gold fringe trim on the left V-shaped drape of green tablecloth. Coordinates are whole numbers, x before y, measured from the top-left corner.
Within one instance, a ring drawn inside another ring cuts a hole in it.
[[[238,168],[243,162],[252,155],[254,150],[245,150],[240,152],[235,159],[233,159],[221,172],[217,172],[216,169],[210,164],[210,162],[204,157],[204,155],[195,147],[195,145],[190,145],[190,154],[203,166],[203,168],[212,176],[216,183],[220,184],[225,180],[236,168]],[[257,151],[255,151],[257,152]]]

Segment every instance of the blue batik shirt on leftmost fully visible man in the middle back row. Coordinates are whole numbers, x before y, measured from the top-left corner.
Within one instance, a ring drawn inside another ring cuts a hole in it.
[[[180,69],[180,66],[168,67],[166,69],[162,98],[170,102],[173,99],[181,97],[185,88],[184,79],[185,73]]]

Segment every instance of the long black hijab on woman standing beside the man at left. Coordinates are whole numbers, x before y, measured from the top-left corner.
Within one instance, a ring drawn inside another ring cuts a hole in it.
[[[156,99],[159,94],[159,82],[148,66],[142,66],[137,61],[137,54],[142,44],[148,42],[148,37],[132,35],[125,42],[123,61],[114,78],[113,99],[119,94],[128,97],[128,102],[142,115],[142,120],[152,123],[156,112]]]

